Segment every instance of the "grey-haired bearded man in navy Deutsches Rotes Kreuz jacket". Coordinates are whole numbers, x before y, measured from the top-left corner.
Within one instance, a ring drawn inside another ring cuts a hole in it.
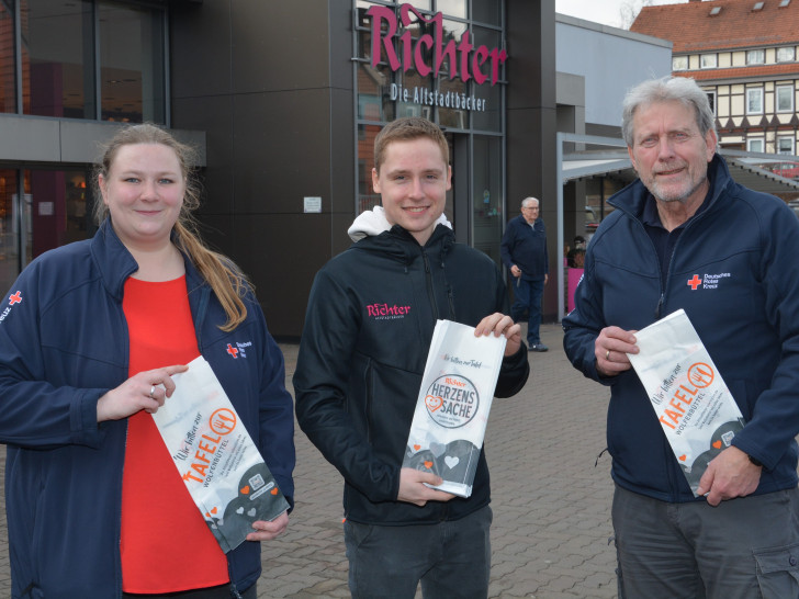
[[[799,223],[735,183],[691,79],[643,82],[622,135],[639,180],[588,246],[564,319],[575,368],[610,388],[620,597],[799,597]],[[695,497],[628,354],[684,308],[745,426]]]

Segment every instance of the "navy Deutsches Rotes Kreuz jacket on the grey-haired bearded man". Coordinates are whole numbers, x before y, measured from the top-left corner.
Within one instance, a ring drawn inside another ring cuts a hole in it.
[[[563,320],[572,363],[610,386],[614,479],[666,501],[695,498],[634,371],[600,380],[594,341],[604,327],[639,330],[678,308],[747,421],[732,443],[764,464],[755,493],[797,484],[799,221],[781,200],[735,183],[720,156],[708,173],[707,206],[686,224],[663,286],[641,223],[648,190],[639,180],[608,201],[616,211],[588,246],[576,308]]]

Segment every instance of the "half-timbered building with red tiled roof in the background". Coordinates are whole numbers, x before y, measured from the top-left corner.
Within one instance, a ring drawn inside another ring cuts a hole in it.
[[[694,78],[707,91],[722,150],[797,155],[798,0],[644,7],[630,30],[674,44],[673,74]]]

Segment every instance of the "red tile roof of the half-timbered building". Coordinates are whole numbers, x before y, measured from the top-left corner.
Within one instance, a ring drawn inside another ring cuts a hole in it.
[[[799,0],[707,0],[643,7],[630,31],[667,39],[673,53],[698,53],[799,43]],[[710,15],[710,9],[720,8]]]

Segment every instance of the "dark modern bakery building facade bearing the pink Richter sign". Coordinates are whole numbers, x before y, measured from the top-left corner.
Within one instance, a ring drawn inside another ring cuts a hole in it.
[[[554,0],[3,2],[0,286],[92,234],[120,122],[199,146],[205,238],[275,336],[300,335],[315,272],[376,204],[371,144],[397,116],[443,127],[448,216],[498,260],[508,205],[554,196],[553,23]]]

